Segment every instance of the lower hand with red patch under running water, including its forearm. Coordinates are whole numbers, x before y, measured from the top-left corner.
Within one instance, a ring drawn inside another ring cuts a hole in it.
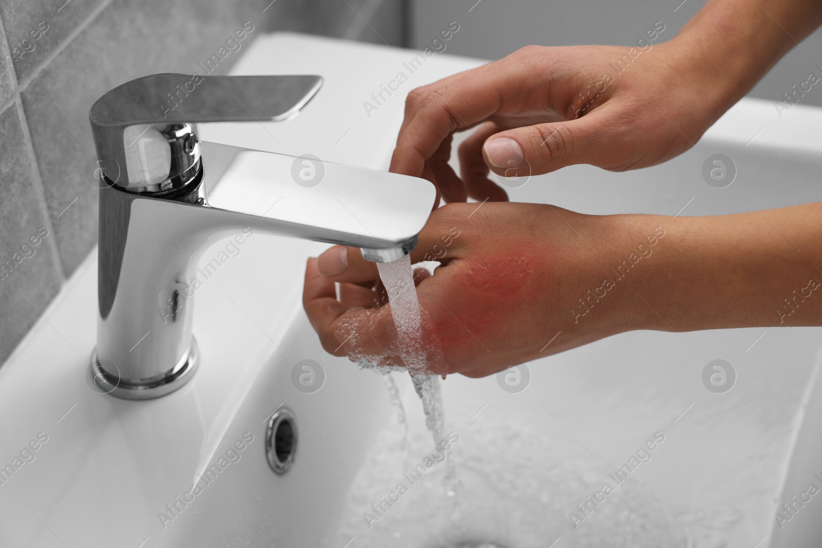
[[[424,359],[477,377],[632,329],[822,325],[820,215],[822,203],[711,217],[446,205],[411,254],[441,263],[418,270]],[[334,246],[309,260],[303,306],[328,352],[401,366],[378,280]]]

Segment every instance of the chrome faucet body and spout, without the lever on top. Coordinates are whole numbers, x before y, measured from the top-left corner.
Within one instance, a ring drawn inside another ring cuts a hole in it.
[[[129,174],[125,181],[101,174],[97,348],[89,369],[99,391],[120,398],[156,398],[192,378],[196,271],[210,244],[253,231],[357,246],[372,260],[392,260],[416,245],[436,199],[418,177],[201,142],[188,123],[150,122],[137,142],[155,155],[146,163],[140,154],[141,168],[131,167],[127,152],[101,151],[95,133],[99,159],[109,154],[118,174]],[[159,180],[153,164],[169,159],[161,154],[166,146],[171,158],[179,150],[196,158],[173,160]]]

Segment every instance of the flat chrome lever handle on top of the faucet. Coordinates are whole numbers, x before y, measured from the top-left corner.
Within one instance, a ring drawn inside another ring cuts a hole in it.
[[[287,119],[308,103],[321,76],[152,74],[110,90],[89,118],[107,181],[129,191],[167,191],[196,176],[196,122]]]

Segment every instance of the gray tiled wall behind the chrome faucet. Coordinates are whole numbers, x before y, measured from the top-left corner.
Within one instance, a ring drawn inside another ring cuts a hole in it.
[[[194,71],[245,21],[243,45],[273,30],[402,45],[403,1],[2,0],[0,363],[97,241],[85,176],[95,99],[137,76]]]

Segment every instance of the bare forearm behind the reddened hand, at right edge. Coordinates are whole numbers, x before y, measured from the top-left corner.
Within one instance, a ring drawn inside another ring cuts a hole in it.
[[[632,287],[635,329],[822,325],[822,202],[628,217],[629,234],[665,229]]]

